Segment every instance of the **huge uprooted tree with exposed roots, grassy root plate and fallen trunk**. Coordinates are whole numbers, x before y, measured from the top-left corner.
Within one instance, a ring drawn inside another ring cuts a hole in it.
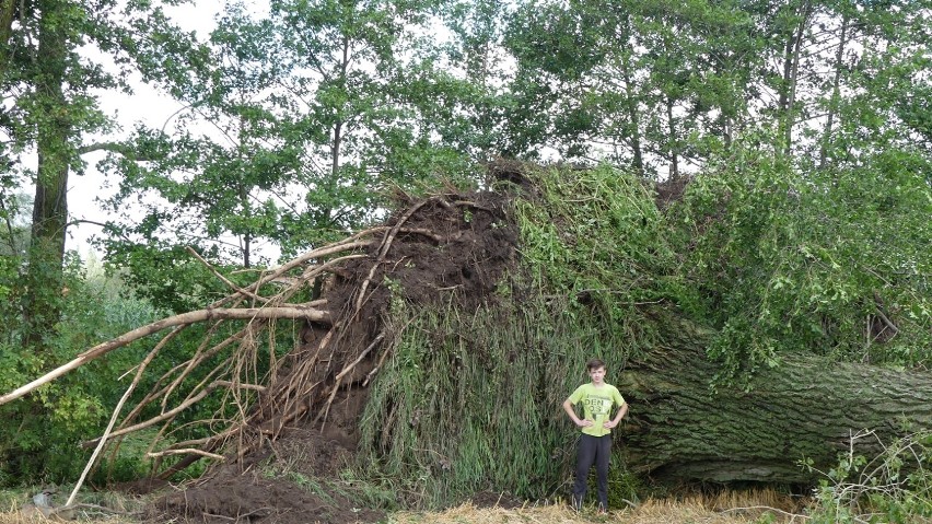
[[[712,331],[665,288],[675,263],[650,190],[609,170],[492,174],[496,190],[400,196],[384,225],[251,286],[215,271],[225,299],[92,348],[0,404],[159,334],[124,397],[132,408],[120,403],[104,441],[158,428],[149,456],[167,475],[198,459],[248,469],[289,431],[334,431],[353,441],[353,467],[393,479],[411,504],[559,492],[574,438],[559,406],[592,356],[631,404],[626,469],[652,478],[809,482],[801,463],[828,468],[855,434],[873,432],[857,442],[872,454],[932,427],[929,373],[799,353],[741,385],[713,381]],[[190,359],[133,395],[196,323],[207,335]],[[186,415],[209,398],[213,415]],[[207,435],[177,436],[191,427]]]

